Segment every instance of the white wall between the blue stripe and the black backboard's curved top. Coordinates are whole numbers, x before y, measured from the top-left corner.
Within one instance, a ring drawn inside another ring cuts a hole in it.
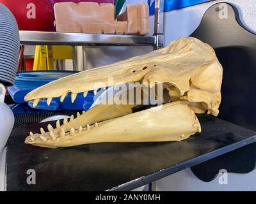
[[[164,14],[164,44],[168,45],[171,41],[180,36],[189,36],[195,31],[205,11],[213,4],[223,1],[212,1],[209,3],[198,4],[189,8],[169,11]],[[244,24],[256,31],[256,2],[255,0],[226,0],[237,6]]]

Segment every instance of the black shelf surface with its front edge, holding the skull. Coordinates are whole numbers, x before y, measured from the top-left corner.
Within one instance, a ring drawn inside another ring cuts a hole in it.
[[[7,191],[129,191],[256,142],[256,133],[209,115],[198,115],[202,133],[182,142],[95,143],[60,149],[26,145],[29,131],[15,129],[7,145]],[[27,170],[36,171],[28,185]]]

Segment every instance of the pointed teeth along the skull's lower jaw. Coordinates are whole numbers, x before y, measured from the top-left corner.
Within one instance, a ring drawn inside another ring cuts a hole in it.
[[[83,133],[84,131],[88,131],[92,128],[97,128],[99,126],[99,124],[96,122],[92,126],[87,124],[87,126],[85,128],[83,128],[82,126],[79,126],[78,129],[70,128],[70,131],[68,131],[67,133],[65,132],[65,130],[63,128],[61,128],[60,133],[57,134],[57,135],[53,133],[53,128],[52,128],[52,126],[51,127],[50,126],[48,126],[48,129],[52,129],[51,131],[49,131],[50,138],[47,138],[43,135],[34,135],[32,132],[30,132],[29,133],[29,135],[30,135],[29,138],[30,138],[31,142],[35,142],[36,140],[41,140],[42,142],[46,142],[49,139],[50,140],[57,140],[58,138],[65,138],[65,136],[72,136],[72,135],[75,135],[76,133]],[[42,132],[45,133],[43,128],[41,128],[40,131],[41,131],[41,133]]]

